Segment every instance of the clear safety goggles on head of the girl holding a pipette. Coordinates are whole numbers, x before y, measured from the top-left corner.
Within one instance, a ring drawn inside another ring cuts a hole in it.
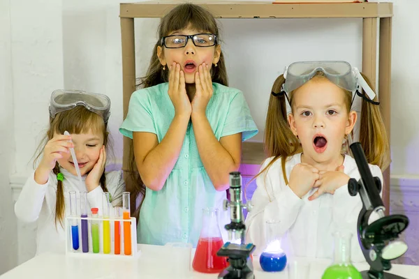
[[[55,90],[51,94],[50,116],[52,118],[59,112],[71,110],[82,105],[87,110],[102,116],[105,123],[110,116],[110,98],[103,94],[87,93],[80,90]]]

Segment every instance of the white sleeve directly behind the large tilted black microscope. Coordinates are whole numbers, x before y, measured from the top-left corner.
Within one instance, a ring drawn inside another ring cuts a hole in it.
[[[369,165],[372,176],[377,176],[382,183],[381,193],[383,193],[383,174],[381,169],[376,165]],[[352,197],[349,195],[348,186],[341,186],[333,195],[332,204],[332,232],[351,232],[351,251],[353,262],[364,262],[365,257],[362,255],[360,243],[358,241],[358,216],[362,209],[362,200],[360,195]],[[376,213],[372,213],[369,217],[369,223],[378,219]]]

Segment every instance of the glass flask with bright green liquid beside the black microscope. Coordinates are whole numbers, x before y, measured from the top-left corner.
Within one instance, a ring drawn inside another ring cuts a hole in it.
[[[362,279],[361,273],[355,269],[351,261],[350,232],[335,232],[333,263],[329,266],[322,279]]]

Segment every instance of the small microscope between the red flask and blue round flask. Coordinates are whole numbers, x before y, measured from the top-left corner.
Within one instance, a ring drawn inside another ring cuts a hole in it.
[[[225,227],[230,242],[225,243],[216,253],[220,257],[228,257],[230,265],[218,276],[219,279],[254,279],[253,265],[250,254],[256,248],[252,243],[244,243],[246,226],[244,225],[243,209],[251,210],[251,205],[242,204],[242,176],[240,172],[230,172],[230,200],[224,201],[224,210],[230,208],[231,223]]]

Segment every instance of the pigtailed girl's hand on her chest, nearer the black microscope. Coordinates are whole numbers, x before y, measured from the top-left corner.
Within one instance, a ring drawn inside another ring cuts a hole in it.
[[[314,183],[314,187],[318,188],[318,190],[309,197],[309,200],[316,199],[324,193],[335,194],[335,190],[348,184],[348,180],[350,179],[350,177],[344,173],[343,165],[337,167],[335,171],[321,171],[319,174],[320,178]]]

